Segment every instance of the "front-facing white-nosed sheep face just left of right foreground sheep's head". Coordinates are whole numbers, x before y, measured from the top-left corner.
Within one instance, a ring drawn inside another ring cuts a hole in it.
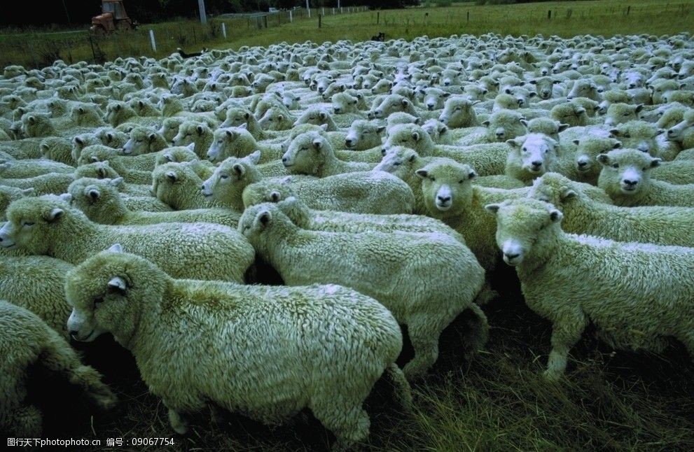
[[[432,162],[416,174],[422,179],[426,209],[436,216],[455,214],[472,196],[471,180],[476,172],[467,164],[454,161]]]

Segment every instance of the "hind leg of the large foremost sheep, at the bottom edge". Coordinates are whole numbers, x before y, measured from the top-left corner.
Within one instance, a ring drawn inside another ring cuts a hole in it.
[[[311,406],[313,415],[337,439],[333,444],[333,451],[345,451],[368,437],[371,421],[361,407],[363,400],[356,406],[355,400],[354,395],[323,395],[321,400]]]

